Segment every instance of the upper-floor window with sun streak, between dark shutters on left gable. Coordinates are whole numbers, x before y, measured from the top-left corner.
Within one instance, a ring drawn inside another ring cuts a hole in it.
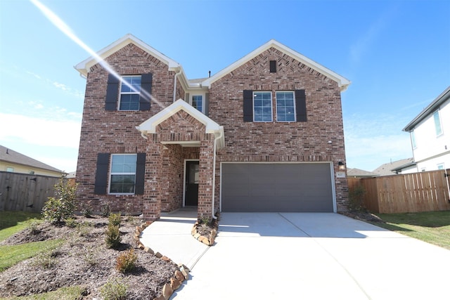
[[[120,84],[119,110],[139,110],[141,76],[124,76]]]

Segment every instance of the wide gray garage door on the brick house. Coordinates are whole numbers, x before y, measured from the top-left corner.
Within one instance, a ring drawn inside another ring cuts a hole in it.
[[[221,165],[222,211],[333,211],[330,164]]]

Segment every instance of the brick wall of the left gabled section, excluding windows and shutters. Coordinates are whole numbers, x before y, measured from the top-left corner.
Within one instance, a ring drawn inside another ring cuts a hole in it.
[[[161,105],[152,103],[149,111],[106,111],[108,72],[99,64],[91,67],[86,79],[79,143],[77,199],[90,202],[96,212],[100,211],[101,202],[109,202],[113,211],[124,212],[131,205],[132,214],[141,214],[144,195],[94,194],[97,154],[147,152],[147,141],[135,126],[172,104],[175,73],[133,44],[113,53],[106,62],[120,75],[153,73],[152,96]]]

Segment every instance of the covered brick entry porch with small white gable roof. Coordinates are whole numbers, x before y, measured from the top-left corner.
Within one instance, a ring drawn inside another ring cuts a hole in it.
[[[224,147],[224,128],[177,100],[136,126],[147,140],[143,217],[198,207],[198,218],[214,214],[215,152]]]

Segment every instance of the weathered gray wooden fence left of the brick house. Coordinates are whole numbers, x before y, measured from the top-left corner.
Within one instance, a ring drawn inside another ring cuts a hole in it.
[[[0,211],[41,212],[60,178],[0,171]]]

